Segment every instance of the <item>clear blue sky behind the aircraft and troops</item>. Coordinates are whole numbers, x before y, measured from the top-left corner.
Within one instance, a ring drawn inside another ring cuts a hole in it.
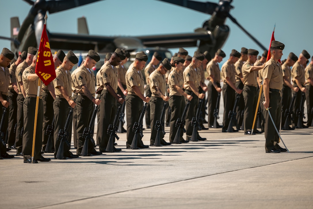
[[[201,0],[199,0],[201,1]],[[30,5],[22,0],[0,0],[1,36],[10,36],[10,17],[18,16],[20,24]],[[202,1],[205,2],[205,1]],[[212,2],[218,3],[217,0]],[[292,51],[299,55],[303,49],[313,55],[312,0],[233,0],[233,17],[252,33],[266,48],[276,23],[275,39],[285,44],[283,59]],[[85,16],[93,35],[150,35],[192,32],[202,27],[210,15],[156,0],[104,0],[60,13],[49,14],[50,32],[77,33],[77,18]],[[231,20],[226,24],[230,34],[223,46],[228,55],[241,47],[262,50]],[[10,48],[9,41],[0,40],[0,47]],[[195,48],[186,48],[193,54]],[[171,49],[177,52],[177,49]],[[227,56],[228,57],[228,56]]]

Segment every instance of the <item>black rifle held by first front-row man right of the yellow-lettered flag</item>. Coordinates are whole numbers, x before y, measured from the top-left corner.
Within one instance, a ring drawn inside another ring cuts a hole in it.
[[[75,102],[76,98],[74,99]],[[71,147],[71,145],[69,144],[69,141],[67,140],[67,138],[69,137],[69,123],[71,121],[72,118],[72,114],[73,114],[73,107],[69,107],[69,113],[67,114],[67,118],[65,121],[65,125],[63,129],[60,129],[58,132],[58,137],[57,140],[60,141],[60,146],[56,155],[57,159],[63,159],[63,152],[64,152],[64,143],[68,146]]]

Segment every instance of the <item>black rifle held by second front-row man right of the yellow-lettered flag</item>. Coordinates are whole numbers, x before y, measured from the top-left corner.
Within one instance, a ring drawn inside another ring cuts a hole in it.
[[[89,141],[91,141],[91,143],[93,144],[93,147],[96,147],[96,143],[95,143],[95,140],[93,138],[94,129],[92,129],[92,127],[95,124],[95,118],[96,118],[97,112],[98,112],[98,106],[95,106],[94,110],[92,111],[92,114],[91,114],[91,119],[90,119],[88,128],[87,127],[84,128],[83,138],[85,139],[85,142],[84,142],[83,149],[81,150],[81,153],[80,153],[81,155],[87,156]]]

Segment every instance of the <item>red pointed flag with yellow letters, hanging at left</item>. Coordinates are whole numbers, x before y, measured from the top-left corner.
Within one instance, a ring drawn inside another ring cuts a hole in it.
[[[46,86],[56,78],[53,56],[51,54],[49,39],[46,32],[46,24],[44,24],[40,39],[35,73]]]

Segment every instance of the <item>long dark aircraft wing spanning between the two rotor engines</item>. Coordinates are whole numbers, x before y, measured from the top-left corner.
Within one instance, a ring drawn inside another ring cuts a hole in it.
[[[141,47],[195,47],[198,40],[213,44],[211,34],[204,32],[184,34],[164,34],[146,36],[96,36],[84,34],[49,33],[50,46],[53,49],[82,50],[94,49],[99,52],[112,52],[116,48],[136,50]]]

